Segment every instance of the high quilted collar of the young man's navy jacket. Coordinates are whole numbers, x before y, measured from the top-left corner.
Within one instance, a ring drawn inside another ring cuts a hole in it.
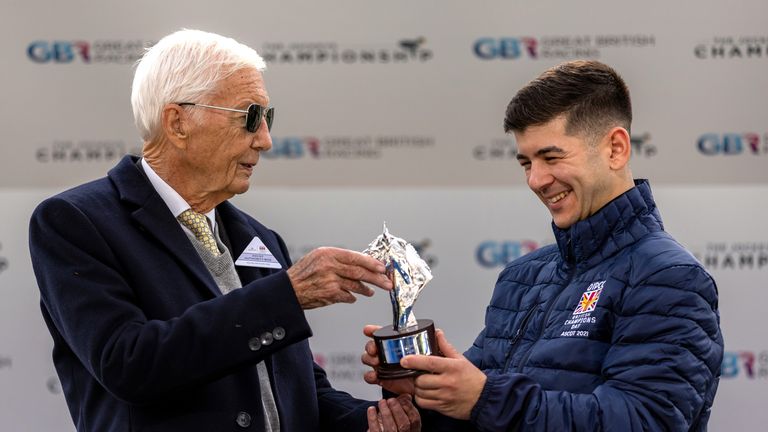
[[[651,186],[641,179],[587,219],[567,229],[553,222],[552,230],[564,261],[592,267],[664,225]]]

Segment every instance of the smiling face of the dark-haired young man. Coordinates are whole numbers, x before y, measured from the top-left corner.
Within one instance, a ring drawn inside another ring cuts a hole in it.
[[[612,143],[613,133],[623,129],[612,130],[594,144],[567,135],[565,129],[565,117],[560,116],[515,132],[517,159],[525,170],[528,187],[562,229],[588,218],[632,187],[624,164],[616,164]]]

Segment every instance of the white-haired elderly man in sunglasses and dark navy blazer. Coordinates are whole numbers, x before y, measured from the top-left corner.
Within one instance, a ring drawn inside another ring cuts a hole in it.
[[[261,57],[185,30],[140,61],[143,158],[40,204],[41,308],[78,431],[419,428],[409,398],[334,390],[304,315],[390,289],[384,265],[280,236],[227,202],[248,190],[274,118]]]

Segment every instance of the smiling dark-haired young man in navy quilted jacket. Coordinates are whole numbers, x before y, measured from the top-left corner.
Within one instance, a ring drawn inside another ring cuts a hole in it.
[[[438,332],[445,358],[401,361],[431,374],[381,382],[460,420],[433,412],[428,430],[706,429],[723,358],[717,289],[633,181],[631,120],[624,81],[595,61],[552,68],[510,102],[504,128],[557,244],[502,271],[464,356]],[[378,364],[372,342],[363,362]]]

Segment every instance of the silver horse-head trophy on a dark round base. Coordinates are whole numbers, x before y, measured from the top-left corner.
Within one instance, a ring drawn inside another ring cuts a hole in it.
[[[410,243],[389,234],[386,224],[384,233],[363,253],[382,261],[393,283],[389,292],[392,325],[373,333],[379,352],[376,373],[383,380],[418,375],[421,371],[400,366],[400,359],[409,354],[442,355],[437,348],[435,324],[428,319],[417,320],[413,315],[413,304],[432,279],[432,272]]]

